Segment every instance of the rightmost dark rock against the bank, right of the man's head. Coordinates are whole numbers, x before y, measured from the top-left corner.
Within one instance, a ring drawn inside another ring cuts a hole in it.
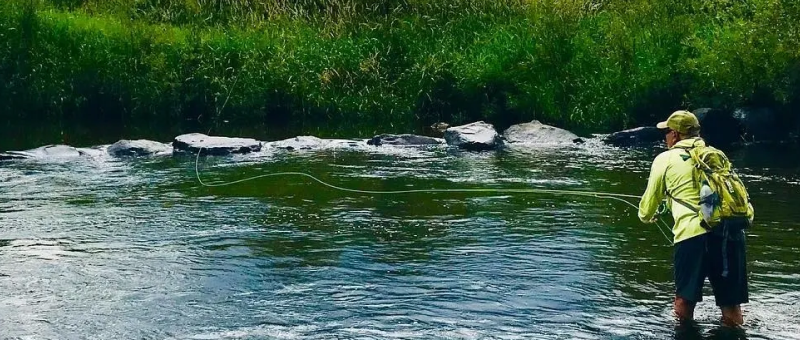
[[[776,141],[788,135],[789,127],[781,126],[778,113],[769,108],[739,108],[733,111],[733,118],[748,142]]]

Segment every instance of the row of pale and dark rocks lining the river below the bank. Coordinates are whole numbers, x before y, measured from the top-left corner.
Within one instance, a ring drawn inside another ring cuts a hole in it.
[[[702,136],[712,145],[731,144],[740,141],[775,140],[787,138],[776,131],[778,116],[769,109],[738,109],[724,112],[714,109],[693,111],[700,120]],[[326,147],[370,146],[428,146],[449,145],[465,150],[495,150],[504,146],[565,146],[583,143],[576,134],[540,123],[517,124],[498,133],[491,124],[479,121],[471,124],[450,127],[445,123],[431,126],[444,138],[410,134],[381,134],[371,139],[329,140],[312,136],[262,142],[251,138],[231,138],[207,136],[190,133],[175,137],[171,144],[149,140],[121,140],[108,147],[74,148],[66,145],[48,145],[26,151],[0,153],[0,160],[26,158],[69,158],[107,153],[114,157],[135,157],[164,155],[173,153],[202,153],[205,155],[229,155],[259,152],[263,148],[278,150],[311,150]],[[603,138],[607,144],[615,146],[644,146],[663,142],[664,136],[655,126],[638,127],[619,131]]]

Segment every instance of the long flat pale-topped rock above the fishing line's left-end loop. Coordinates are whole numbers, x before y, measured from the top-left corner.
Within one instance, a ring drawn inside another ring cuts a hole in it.
[[[203,150],[207,155],[229,155],[261,151],[261,142],[251,138],[230,138],[190,133],[175,137],[175,151],[196,153]]]

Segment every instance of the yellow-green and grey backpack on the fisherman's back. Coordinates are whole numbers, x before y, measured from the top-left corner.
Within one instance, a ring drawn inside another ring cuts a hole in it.
[[[672,199],[698,213],[703,227],[709,230],[726,220],[747,220],[750,196],[725,153],[711,146],[693,145],[684,150],[694,163],[694,184],[700,186],[700,209]]]

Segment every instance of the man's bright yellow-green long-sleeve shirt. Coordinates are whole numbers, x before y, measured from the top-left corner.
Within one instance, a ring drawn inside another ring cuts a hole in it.
[[[692,172],[694,166],[689,153],[682,148],[705,146],[699,138],[684,139],[676,143],[670,150],[659,154],[650,169],[647,189],[639,202],[639,219],[644,223],[652,223],[653,217],[669,191],[672,197],[699,209],[700,188],[694,183]],[[675,243],[706,233],[700,226],[700,216],[682,204],[667,200],[667,207],[672,211],[675,225],[672,227]]]

